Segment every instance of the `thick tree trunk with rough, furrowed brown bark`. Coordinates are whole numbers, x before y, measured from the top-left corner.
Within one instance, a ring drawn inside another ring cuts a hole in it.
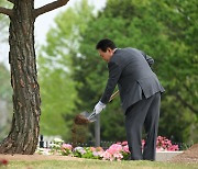
[[[10,18],[11,84],[13,120],[11,132],[0,145],[0,154],[35,151],[40,133],[41,99],[34,49],[34,0],[15,0]]]

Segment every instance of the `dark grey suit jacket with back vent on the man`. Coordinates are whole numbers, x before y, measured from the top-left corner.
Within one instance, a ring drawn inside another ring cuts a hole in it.
[[[156,75],[152,71],[153,58],[135,48],[117,49],[108,63],[109,79],[101,98],[108,103],[117,83],[124,112],[135,102],[156,92],[164,92]]]

